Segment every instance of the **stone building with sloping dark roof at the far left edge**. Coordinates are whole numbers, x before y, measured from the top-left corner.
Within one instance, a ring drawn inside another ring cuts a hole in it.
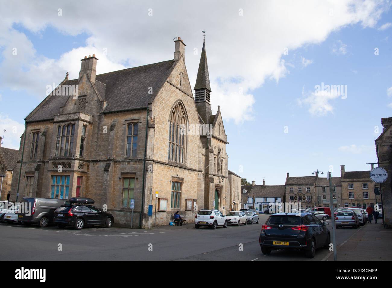
[[[15,172],[16,161],[19,159],[19,150],[2,147],[0,137],[0,200],[9,200],[11,181]],[[28,187],[26,187],[28,189]]]

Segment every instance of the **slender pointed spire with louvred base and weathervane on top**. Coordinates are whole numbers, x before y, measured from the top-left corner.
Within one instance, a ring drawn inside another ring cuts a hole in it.
[[[208,73],[207,53],[205,51],[205,31],[203,31],[203,48],[201,49],[199,70],[197,72],[195,91],[195,101],[210,103],[210,76]]]

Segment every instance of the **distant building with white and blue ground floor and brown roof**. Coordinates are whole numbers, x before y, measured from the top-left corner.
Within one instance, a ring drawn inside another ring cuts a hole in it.
[[[285,197],[285,185],[256,185],[252,181],[252,185],[243,185],[242,202],[243,208],[254,209],[262,212],[270,208],[270,203],[282,203]]]

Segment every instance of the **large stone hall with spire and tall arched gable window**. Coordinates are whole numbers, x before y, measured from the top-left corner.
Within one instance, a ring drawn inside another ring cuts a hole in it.
[[[79,77],[67,75],[25,118],[20,195],[30,181],[33,197],[91,197],[117,225],[130,225],[134,200],[139,227],[229,205],[227,135],[220,107],[211,110],[205,41],[194,97],[186,45],[174,42],[172,60],[99,75],[98,58],[85,56]]]

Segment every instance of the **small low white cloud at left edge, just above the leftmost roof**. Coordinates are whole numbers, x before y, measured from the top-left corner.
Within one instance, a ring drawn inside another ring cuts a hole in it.
[[[7,130],[7,132],[4,132],[4,129]],[[4,133],[2,147],[19,150],[20,136],[24,132],[23,123],[19,123],[18,121],[9,118],[8,115],[0,113],[0,132],[0,136],[3,136]]]

